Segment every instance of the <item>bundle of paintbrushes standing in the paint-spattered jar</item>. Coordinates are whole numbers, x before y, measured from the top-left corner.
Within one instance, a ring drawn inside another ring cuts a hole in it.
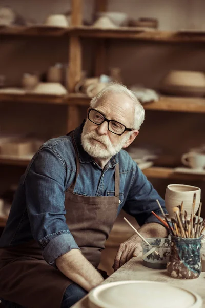
[[[201,203],[198,210],[198,216],[194,215],[194,208],[196,202],[196,194],[194,194],[193,203],[192,203],[192,213],[190,218],[188,218],[187,211],[183,211],[183,202],[181,205],[173,208],[175,218],[171,218],[171,224],[166,217],[165,212],[163,211],[160,203],[156,200],[159,208],[161,210],[161,214],[163,219],[160,218],[157,214],[152,212],[160,221],[165,225],[165,227],[169,230],[172,235],[182,238],[199,238],[202,235],[203,230],[205,229],[205,220],[203,222],[200,221],[201,214]]]

